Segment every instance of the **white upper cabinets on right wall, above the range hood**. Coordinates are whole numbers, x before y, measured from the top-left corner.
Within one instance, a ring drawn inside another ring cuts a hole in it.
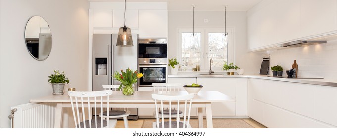
[[[248,11],[250,51],[337,32],[337,0],[263,0]]]

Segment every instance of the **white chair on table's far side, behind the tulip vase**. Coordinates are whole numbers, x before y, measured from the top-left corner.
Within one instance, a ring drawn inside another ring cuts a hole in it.
[[[118,87],[119,85],[103,85],[103,88],[105,90],[112,90],[112,91],[118,91]],[[107,117],[107,111],[102,112],[102,114],[100,113],[99,116],[107,119],[113,119],[113,118],[123,118],[124,120],[124,127],[125,128],[129,128],[128,125],[128,116],[130,115],[130,111],[128,111],[127,108],[114,108],[117,110],[109,110],[109,117]]]

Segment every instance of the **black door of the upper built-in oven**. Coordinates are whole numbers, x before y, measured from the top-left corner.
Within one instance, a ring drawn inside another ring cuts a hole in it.
[[[138,58],[167,58],[167,43],[139,43]]]

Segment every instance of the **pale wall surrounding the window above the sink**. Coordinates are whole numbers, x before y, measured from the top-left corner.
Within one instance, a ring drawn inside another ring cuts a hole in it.
[[[208,19],[208,23],[204,23]],[[235,28],[235,64],[245,70],[244,74],[259,74],[262,56],[248,52],[247,12],[227,11],[226,26]],[[194,28],[224,28],[224,11],[194,11]],[[168,58],[177,57],[178,28],[193,28],[193,12],[169,11]]]

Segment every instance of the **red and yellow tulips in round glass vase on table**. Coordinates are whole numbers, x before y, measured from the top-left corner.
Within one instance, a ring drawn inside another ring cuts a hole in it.
[[[121,74],[119,72],[115,72],[113,76],[116,80],[121,82],[119,86],[119,90],[122,89],[124,95],[133,95],[135,93],[135,85],[134,83],[137,82],[138,78],[143,77],[142,73],[137,73],[132,69],[126,69],[126,72],[121,69]]]

